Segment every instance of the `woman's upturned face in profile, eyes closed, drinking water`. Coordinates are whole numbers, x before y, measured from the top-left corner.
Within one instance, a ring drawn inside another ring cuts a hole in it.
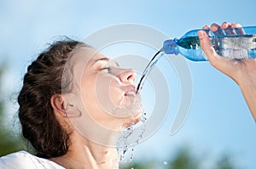
[[[122,130],[141,120],[141,100],[136,94],[135,72],[119,65],[92,48],[80,48],[86,61],[80,80],[80,95],[86,112],[98,125]]]

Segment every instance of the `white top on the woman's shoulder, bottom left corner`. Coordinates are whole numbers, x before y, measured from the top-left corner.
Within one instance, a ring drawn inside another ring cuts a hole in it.
[[[26,151],[19,151],[0,158],[0,168],[5,169],[64,169],[53,161],[39,158]]]

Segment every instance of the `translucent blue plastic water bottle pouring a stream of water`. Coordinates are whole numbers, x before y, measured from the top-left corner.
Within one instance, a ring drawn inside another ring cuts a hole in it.
[[[206,61],[198,37],[198,31],[187,32],[180,39],[174,38],[164,42],[162,51],[166,54],[182,54],[193,61]],[[230,28],[207,31],[213,48],[217,54],[230,59],[253,59],[256,58],[256,26]]]

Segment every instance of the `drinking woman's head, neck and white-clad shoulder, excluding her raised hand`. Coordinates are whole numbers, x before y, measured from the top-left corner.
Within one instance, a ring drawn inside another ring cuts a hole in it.
[[[55,42],[28,66],[18,96],[37,156],[7,155],[0,168],[118,168],[119,132],[141,120],[134,81],[83,42]]]

